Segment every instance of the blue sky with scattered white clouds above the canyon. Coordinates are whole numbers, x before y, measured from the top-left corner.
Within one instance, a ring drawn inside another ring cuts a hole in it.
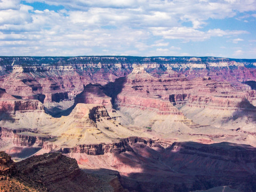
[[[256,0],[0,0],[0,55],[256,59]]]

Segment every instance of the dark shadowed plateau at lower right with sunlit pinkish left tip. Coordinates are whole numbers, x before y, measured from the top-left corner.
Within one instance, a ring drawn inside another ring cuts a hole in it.
[[[138,137],[104,145],[61,150],[84,167],[119,171],[122,185],[130,191],[194,191],[218,186],[255,189],[256,149],[252,146],[227,142],[171,145]]]

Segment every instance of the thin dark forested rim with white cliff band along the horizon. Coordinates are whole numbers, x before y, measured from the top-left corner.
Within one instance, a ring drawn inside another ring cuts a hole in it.
[[[66,69],[69,70],[71,66],[77,65],[79,67],[125,67],[125,65],[138,65],[138,63],[145,63],[145,65],[153,65],[154,67],[165,67],[166,65],[173,65],[178,68],[187,64],[187,68],[226,68],[236,69],[237,67],[255,67],[255,60],[253,59],[229,59],[229,58],[214,58],[214,57],[2,57],[1,66],[22,65],[27,63],[27,66],[20,66],[26,68],[29,65],[42,66],[47,68],[47,64],[59,64],[54,66],[51,70]],[[45,63],[47,63],[45,65]],[[176,64],[176,65],[175,65]],[[71,65],[71,66],[70,66]],[[82,66],[81,66],[82,65]],[[62,67],[63,66],[63,67]],[[145,66],[143,66],[145,67]]]

